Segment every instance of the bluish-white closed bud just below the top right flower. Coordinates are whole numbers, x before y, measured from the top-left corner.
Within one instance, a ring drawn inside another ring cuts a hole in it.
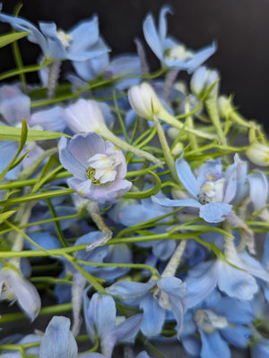
[[[220,79],[219,72],[215,70],[210,70],[205,66],[199,67],[193,74],[190,86],[191,90],[198,98],[201,98],[204,95],[206,90],[209,90],[211,86],[215,83],[213,89],[208,94],[208,96],[213,97],[218,92],[218,83],[216,83]]]

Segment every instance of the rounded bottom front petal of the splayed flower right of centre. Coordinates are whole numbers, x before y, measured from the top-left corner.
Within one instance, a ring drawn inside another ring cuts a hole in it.
[[[220,223],[232,212],[232,206],[223,202],[210,202],[201,206],[199,217],[207,223]]]

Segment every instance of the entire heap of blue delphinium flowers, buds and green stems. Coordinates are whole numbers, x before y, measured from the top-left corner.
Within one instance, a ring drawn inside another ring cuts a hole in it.
[[[0,357],[269,358],[269,145],[204,64],[216,43],[187,49],[168,13],[113,57],[97,15],[65,32],[0,6],[3,42],[42,53],[0,76]]]

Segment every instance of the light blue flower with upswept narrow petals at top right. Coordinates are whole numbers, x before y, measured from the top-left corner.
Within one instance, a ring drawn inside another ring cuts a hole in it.
[[[165,67],[194,72],[216,51],[217,46],[204,47],[194,53],[179,43],[176,39],[167,35],[167,13],[171,13],[169,6],[161,8],[159,28],[156,27],[152,14],[148,14],[143,21],[143,35],[153,53],[159,58]]]

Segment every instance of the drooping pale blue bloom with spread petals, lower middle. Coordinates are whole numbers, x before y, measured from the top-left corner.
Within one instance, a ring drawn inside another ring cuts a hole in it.
[[[177,277],[162,277],[146,283],[119,281],[107,289],[109,294],[121,297],[126,304],[143,310],[141,330],[146,337],[157,336],[170,311],[177,321],[178,335],[183,323],[182,300],[186,285]]]

